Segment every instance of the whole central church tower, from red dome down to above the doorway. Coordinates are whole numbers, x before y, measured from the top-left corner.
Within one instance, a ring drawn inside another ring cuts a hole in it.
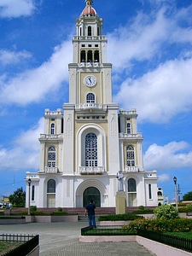
[[[76,20],[73,63],[68,65],[69,103],[63,105],[64,173],[119,172],[119,105],[112,102],[107,44],[102,19],[92,1],[86,0]],[[91,143],[96,143],[96,148],[86,149]]]

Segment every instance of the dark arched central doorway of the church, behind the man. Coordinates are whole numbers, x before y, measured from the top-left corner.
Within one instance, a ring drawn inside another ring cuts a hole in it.
[[[95,187],[90,187],[84,190],[83,206],[86,207],[91,199],[95,202],[96,207],[101,207],[101,194]]]

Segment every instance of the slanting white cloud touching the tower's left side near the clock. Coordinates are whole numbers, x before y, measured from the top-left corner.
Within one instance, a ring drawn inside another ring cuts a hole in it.
[[[68,81],[67,64],[72,60],[71,41],[55,47],[53,55],[40,67],[19,73],[15,78],[0,80],[0,101],[25,105],[41,101]],[[27,88],[27,90],[26,90]]]

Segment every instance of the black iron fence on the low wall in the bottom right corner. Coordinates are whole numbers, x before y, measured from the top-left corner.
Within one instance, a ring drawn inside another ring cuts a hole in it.
[[[192,239],[147,230],[138,230],[137,235],[192,253]]]

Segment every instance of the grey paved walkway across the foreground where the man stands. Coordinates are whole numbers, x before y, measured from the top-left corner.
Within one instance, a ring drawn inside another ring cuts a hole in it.
[[[0,225],[0,233],[39,234],[40,256],[147,256],[154,255],[137,242],[79,242],[87,223],[34,223]]]

